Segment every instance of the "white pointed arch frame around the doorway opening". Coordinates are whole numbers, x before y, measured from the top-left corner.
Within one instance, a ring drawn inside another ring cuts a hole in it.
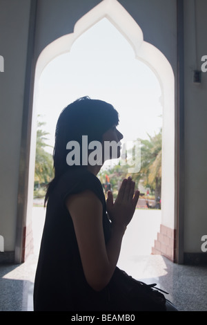
[[[34,183],[35,160],[35,99],[38,81],[43,68],[55,57],[70,52],[74,41],[98,21],[106,17],[120,32],[135,51],[135,57],[147,64],[159,80],[163,105],[162,142],[162,220],[169,228],[175,228],[175,85],[174,74],[168,59],[155,46],[144,41],[143,32],[137,22],[117,0],[103,0],[75,24],[74,32],[63,35],[43,49],[37,60],[34,82],[34,102],[32,118],[32,142],[30,148],[29,186]],[[123,24],[124,22],[124,24]],[[33,145],[32,145],[33,144]],[[32,163],[33,162],[33,163]],[[28,193],[28,207],[32,197]]]

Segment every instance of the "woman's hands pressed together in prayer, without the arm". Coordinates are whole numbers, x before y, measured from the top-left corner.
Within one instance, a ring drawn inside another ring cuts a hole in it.
[[[106,208],[112,225],[126,229],[130,223],[139,199],[139,190],[135,191],[135,182],[131,177],[124,178],[115,202],[112,192],[108,191]]]

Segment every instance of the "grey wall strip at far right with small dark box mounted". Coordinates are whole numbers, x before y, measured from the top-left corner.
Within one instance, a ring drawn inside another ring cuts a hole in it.
[[[193,71],[201,71],[207,55],[207,1],[184,1],[184,123],[185,215],[184,252],[201,252],[201,236],[207,234],[207,73],[193,83]]]

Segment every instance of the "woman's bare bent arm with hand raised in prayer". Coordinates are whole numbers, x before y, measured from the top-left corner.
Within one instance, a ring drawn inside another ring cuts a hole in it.
[[[139,197],[135,193],[133,198],[134,187],[131,180],[124,180],[115,203],[109,193],[107,207],[112,220],[112,232],[107,245],[103,235],[103,207],[99,198],[87,190],[68,196],[66,200],[75,228],[83,272],[94,290],[106,287],[117,266],[126,225],[132,219]]]

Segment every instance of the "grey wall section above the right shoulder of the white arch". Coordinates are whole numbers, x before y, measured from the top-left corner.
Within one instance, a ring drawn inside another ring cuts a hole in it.
[[[143,31],[144,41],[159,48],[177,76],[177,1],[119,0]]]

